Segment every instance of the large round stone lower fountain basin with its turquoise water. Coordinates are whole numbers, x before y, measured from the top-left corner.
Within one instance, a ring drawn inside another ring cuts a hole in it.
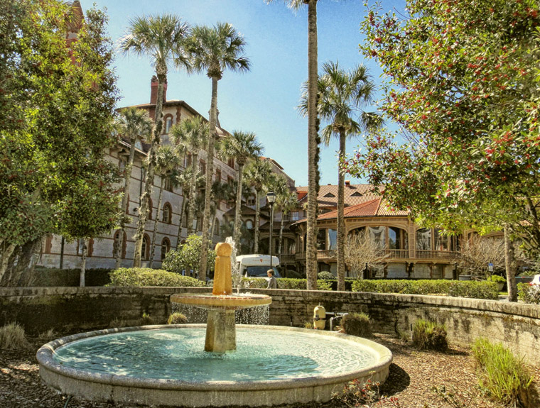
[[[383,382],[392,353],[330,331],[237,326],[237,351],[202,351],[205,325],[143,326],[60,338],[38,351],[40,374],[68,395],[168,407],[326,402],[346,382]]]

